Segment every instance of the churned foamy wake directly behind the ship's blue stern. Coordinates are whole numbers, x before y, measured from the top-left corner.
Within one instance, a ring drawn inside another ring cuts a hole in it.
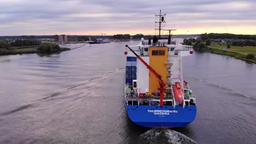
[[[171,129],[150,129],[140,136],[142,143],[196,143],[189,137]]]

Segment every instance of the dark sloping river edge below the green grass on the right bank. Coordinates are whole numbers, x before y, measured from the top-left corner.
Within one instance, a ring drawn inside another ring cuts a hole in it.
[[[208,52],[211,52],[211,53],[217,53],[219,55],[234,57],[234,58],[237,58],[237,59],[241,59],[243,61],[247,61],[247,62],[251,62],[251,63],[256,64],[256,58],[246,59],[246,55],[243,55],[242,53],[239,53],[239,52],[226,51],[226,50],[221,50],[221,49],[213,48],[213,47],[207,47],[207,48],[205,47],[202,50],[208,51]]]

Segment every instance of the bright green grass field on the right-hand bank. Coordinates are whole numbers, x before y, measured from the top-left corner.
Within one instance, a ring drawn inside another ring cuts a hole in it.
[[[226,48],[226,45],[212,44],[209,47],[217,48],[217,49],[223,49],[223,47]],[[246,54],[254,53],[254,55],[256,56],[256,47],[253,47],[253,46],[243,46],[243,47],[241,47],[241,46],[232,46],[231,45],[231,48],[226,49],[226,50],[241,52],[241,53],[246,53]]]

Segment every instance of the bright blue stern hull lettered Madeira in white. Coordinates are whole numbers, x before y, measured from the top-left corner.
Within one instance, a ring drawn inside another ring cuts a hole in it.
[[[196,117],[196,106],[149,106],[125,105],[132,122],[143,127],[173,128],[184,127]]]

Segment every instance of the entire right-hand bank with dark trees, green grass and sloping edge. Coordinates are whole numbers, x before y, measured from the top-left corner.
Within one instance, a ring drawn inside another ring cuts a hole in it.
[[[256,64],[256,37],[238,39],[235,34],[202,34],[194,39],[184,39],[184,45],[191,45],[195,50],[225,55]],[[234,39],[235,38],[235,39]]]

